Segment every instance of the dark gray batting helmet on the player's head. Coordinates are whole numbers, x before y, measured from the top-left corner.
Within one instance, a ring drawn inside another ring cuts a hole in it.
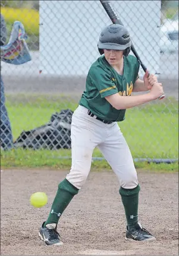
[[[127,29],[120,24],[106,26],[99,37],[98,50],[102,55],[103,49],[124,50],[124,55],[130,53],[131,39]]]

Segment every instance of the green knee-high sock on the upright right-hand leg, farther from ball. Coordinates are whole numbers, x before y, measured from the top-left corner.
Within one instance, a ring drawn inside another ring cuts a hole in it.
[[[134,189],[120,187],[120,195],[125,209],[127,226],[134,226],[138,221],[139,184]]]

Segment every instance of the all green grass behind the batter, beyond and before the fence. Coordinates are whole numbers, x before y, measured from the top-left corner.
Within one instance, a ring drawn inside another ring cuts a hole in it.
[[[33,129],[49,122],[51,115],[61,109],[75,110],[78,100],[65,95],[7,95],[14,140],[23,130]],[[121,131],[130,146],[133,158],[178,158],[178,101],[172,98],[155,101],[142,107],[128,109],[126,119],[120,122]],[[71,150],[12,150],[1,152],[1,165],[12,167],[70,168]],[[102,156],[95,150],[93,156]],[[105,161],[95,161],[93,168],[109,169]],[[146,164],[136,162],[137,168],[177,170],[175,164]]]

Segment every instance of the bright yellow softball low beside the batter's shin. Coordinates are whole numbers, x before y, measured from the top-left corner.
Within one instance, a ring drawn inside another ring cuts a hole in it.
[[[48,202],[48,197],[44,192],[36,192],[30,196],[30,204],[35,208],[41,208]]]

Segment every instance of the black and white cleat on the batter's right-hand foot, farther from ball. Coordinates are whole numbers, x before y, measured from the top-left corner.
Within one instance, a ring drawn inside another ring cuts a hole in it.
[[[127,226],[125,240],[154,241],[156,238],[152,236],[146,229],[144,229],[138,222],[134,227],[128,228]]]

